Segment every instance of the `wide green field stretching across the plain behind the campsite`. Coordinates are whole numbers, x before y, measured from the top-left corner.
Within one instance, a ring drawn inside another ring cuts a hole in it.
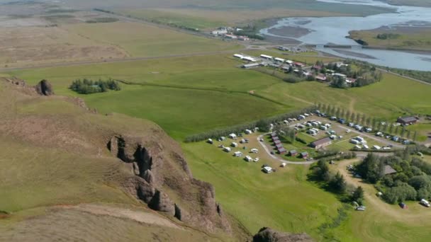
[[[101,113],[119,112],[153,120],[177,139],[206,129],[287,113],[313,103],[328,103],[389,121],[406,113],[431,111],[430,86],[391,74],[384,74],[379,83],[344,90],[315,81],[286,83],[257,71],[237,68],[240,62],[228,56],[89,64],[9,74],[29,83],[48,79],[57,94],[67,96],[76,96],[68,86],[74,79],[83,77],[112,77],[159,85],[123,85],[123,91],[118,93],[81,97]],[[391,86],[390,93],[387,86]],[[268,100],[250,96],[249,91]]]

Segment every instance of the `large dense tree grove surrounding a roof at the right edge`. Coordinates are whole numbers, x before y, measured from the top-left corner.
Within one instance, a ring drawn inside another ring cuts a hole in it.
[[[385,174],[386,166],[391,166],[396,173]],[[364,180],[375,184],[388,203],[431,197],[430,164],[418,157],[411,157],[408,150],[388,157],[369,154],[355,170]]]

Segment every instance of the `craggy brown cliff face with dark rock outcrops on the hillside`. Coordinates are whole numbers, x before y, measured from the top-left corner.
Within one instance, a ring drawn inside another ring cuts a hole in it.
[[[126,190],[148,207],[207,231],[231,231],[220,204],[215,202],[213,185],[192,177],[173,141],[116,135],[108,148],[135,174],[125,181]]]

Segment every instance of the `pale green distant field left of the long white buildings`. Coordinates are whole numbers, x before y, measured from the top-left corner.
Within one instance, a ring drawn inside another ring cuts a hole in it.
[[[121,47],[132,57],[155,57],[199,52],[235,50],[238,45],[179,33],[144,23],[98,23],[64,25],[71,33]]]

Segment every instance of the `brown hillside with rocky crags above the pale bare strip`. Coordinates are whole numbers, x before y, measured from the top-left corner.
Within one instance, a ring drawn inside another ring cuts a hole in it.
[[[96,115],[82,100],[52,93],[46,81],[36,88],[0,81],[0,149],[7,150],[0,165],[8,167],[0,171],[6,179],[0,210],[140,204],[205,233],[246,238],[223,214],[213,186],[193,178],[181,148],[160,127]]]

